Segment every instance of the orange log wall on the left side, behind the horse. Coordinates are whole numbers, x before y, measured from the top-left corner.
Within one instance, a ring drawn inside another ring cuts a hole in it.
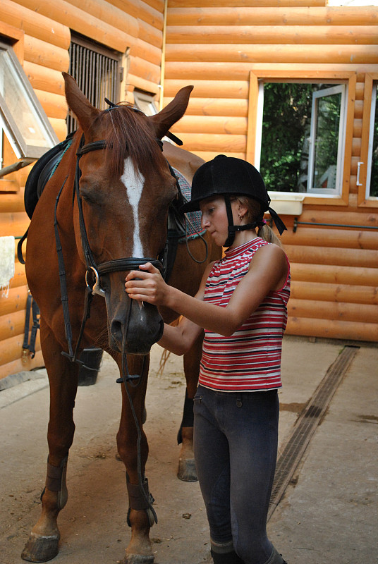
[[[134,87],[159,99],[163,25],[164,0],[1,0],[0,37],[13,43],[59,140],[66,137],[61,72],[68,71],[71,30],[123,54],[121,99],[133,101]],[[0,183],[0,236],[20,237],[28,228],[23,187],[29,171],[11,176],[19,190],[1,191]],[[43,365],[39,335],[35,359],[21,358],[27,297],[25,268],[16,257],[8,297],[0,294],[0,378]]]

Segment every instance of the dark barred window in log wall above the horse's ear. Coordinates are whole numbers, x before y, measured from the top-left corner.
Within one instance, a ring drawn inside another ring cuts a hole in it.
[[[71,32],[68,72],[95,108],[106,109],[108,105],[105,98],[114,104],[120,101],[120,85],[123,78],[121,60],[122,55],[118,51]],[[75,117],[68,114],[68,133],[77,128]]]

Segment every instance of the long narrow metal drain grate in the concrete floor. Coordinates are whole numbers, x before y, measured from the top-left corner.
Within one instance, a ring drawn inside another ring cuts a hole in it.
[[[341,383],[343,376],[357,353],[358,346],[347,345],[343,348],[335,362],[331,364],[326,375],[315,390],[310,402],[298,419],[295,429],[284,447],[276,464],[276,474],[269,503],[268,520],[279,504],[288,486],[295,468],[298,466],[305,449],[315,433],[324,412]]]

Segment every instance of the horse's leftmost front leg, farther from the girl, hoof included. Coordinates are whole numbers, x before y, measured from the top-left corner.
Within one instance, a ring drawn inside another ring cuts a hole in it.
[[[41,345],[50,384],[49,458],[42,515],[21,555],[30,562],[46,562],[58,553],[60,533],[56,520],[68,498],[66,465],[75,431],[73,406],[78,386],[78,367],[61,355],[61,346],[43,320]]]

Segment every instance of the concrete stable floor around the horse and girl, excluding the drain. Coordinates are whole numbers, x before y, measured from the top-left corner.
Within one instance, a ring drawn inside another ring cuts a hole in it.
[[[295,428],[343,343],[284,339],[279,450]],[[157,375],[152,350],[147,390],[147,477],[159,522],[151,530],[156,564],[210,562],[205,510],[197,483],[176,478],[185,384],[171,355]],[[0,563],[20,553],[40,512],[47,460],[49,391],[39,378],[0,392]],[[70,497],[59,516],[56,564],[117,563],[130,530],[123,465],[115,458],[121,407],[117,369],[104,355],[95,386],[80,387],[68,462]],[[288,564],[372,564],[377,558],[378,349],[361,345],[268,523]]]

